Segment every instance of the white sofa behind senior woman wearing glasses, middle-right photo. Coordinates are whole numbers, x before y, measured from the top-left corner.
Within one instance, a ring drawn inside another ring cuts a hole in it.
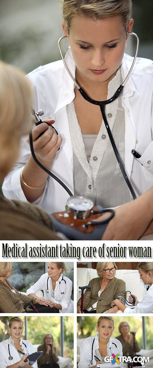
[[[77,300],[79,300],[81,297],[81,290],[79,289],[79,286],[88,285],[89,281],[95,277],[98,277],[96,269],[77,268]],[[115,277],[125,281],[126,291],[130,290],[132,294],[135,294],[138,298],[138,301],[143,299],[146,293],[146,288],[142,280],[140,280],[138,270],[116,270]],[[117,313],[122,312],[118,311]]]

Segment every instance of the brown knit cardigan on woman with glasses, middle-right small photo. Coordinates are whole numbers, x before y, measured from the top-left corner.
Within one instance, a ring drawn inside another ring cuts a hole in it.
[[[101,289],[102,279],[101,277],[95,277],[90,280],[90,289],[86,289],[83,299],[83,309],[92,308],[92,305],[98,300],[96,313],[106,312],[111,308],[111,302],[116,299],[119,295],[125,295],[125,282],[123,280],[114,277],[109,281],[108,285],[102,291],[100,297],[98,297],[98,291]],[[77,302],[77,306],[81,307],[81,298]],[[94,308],[91,310],[93,311]]]

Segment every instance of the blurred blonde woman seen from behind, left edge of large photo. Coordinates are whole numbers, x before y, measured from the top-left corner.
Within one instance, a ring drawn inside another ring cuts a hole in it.
[[[0,182],[17,160],[21,137],[30,130],[31,104],[28,79],[15,67],[0,61]],[[21,191],[20,186],[17,191]],[[0,239],[59,239],[51,231],[54,228],[50,217],[28,202],[8,201],[0,196],[0,224]]]

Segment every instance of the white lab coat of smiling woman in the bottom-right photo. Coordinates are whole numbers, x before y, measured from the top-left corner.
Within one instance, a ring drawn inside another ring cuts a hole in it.
[[[92,355],[92,343],[93,340],[93,355]],[[116,346],[117,348],[116,348]],[[96,355],[96,350],[99,348],[99,333],[97,333],[96,336],[87,337],[87,339],[83,340],[81,342],[80,346],[80,362],[78,363],[78,368],[89,368],[93,367],[97,360],[94,358],[94,355]],[[119,354],[119,356],[123,356],[122,352],[122,344],[119,340],[114,339],[113,337],[110,337],[109,342],[107,344],[107,356],[112,357],[113,354]],[[92,359],[92,364],[91,364]],[[121,363],[121,367],[123,368],[123,363]]]

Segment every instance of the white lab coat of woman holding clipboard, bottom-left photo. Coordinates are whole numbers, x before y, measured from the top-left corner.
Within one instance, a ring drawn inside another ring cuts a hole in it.
[[[25,345],[26,347],[25,347]],[[8,344],[9,344],[9,348],[10,348],[10,354],[8,352]],[[33,345],[32,343],[30,343],[30,341],[27,340],[22,340],[20,339],[20,345],[21,345],[21,351],[22,348],[25,351],[25,354],[32,354],[35,353],[34,349],[33,349]],[[9,355],[11,355],[13,357],[12,360],[9,360],[8,357]],[[8,365],[12,365],[15,364],[17,362],[19,362],[21,360],[21,358],[19,357],[19,353],[17,352],[17,350],[15,349],[15,347],[11,344],[11,337],[8,340],[4,340],[0,343],[0,368],[6,368]],[[35,362],[32,365],[33,368],[38,368],[37,366],[37,362]]]

